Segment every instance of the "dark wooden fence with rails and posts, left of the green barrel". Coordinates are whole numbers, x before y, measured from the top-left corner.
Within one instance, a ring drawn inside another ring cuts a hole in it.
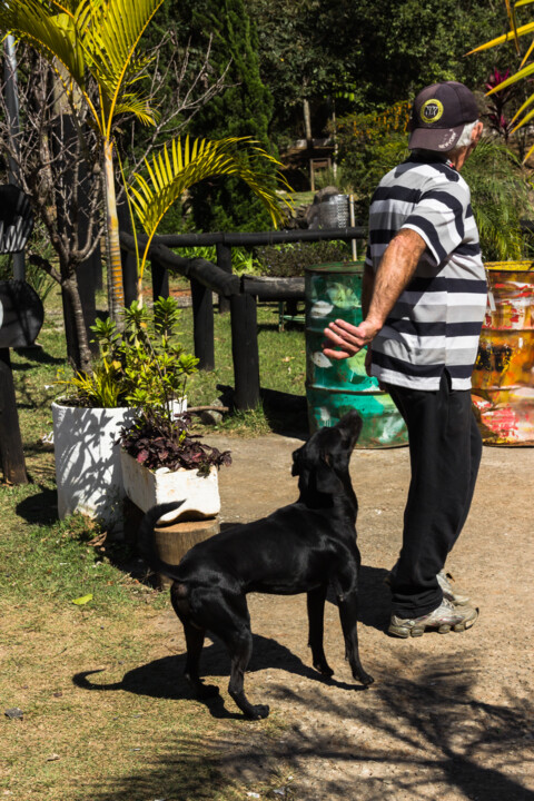
[[[155,237],[149,249],[155,298],[168,297],[169,273],[177,273],[191,284],[195,356],[200,369],[214,369],[214,306],[212,294],[219,296],[219,312],[231,314],[231,355],[234,362],[235,406],[237,409],[255,408],[259,403],[260,376],[258,353],[258,300],[286,300],[304,298],[304,278],[264,279],[236,276],[231,273],[231,248],[253,248],[258,245],[276,245],[294,241],[322,241],[362,239],[367,235],[364,227],[318,230],[266,231],[259,234],[186,234]],[[142,248],[142,239],[138,238]],[[216,246],[217,264],[202,258],[184,258],[170,248]],[[125,297],[134,299],[135,287],[130,285],[131,261],[136,253],[130,234],[121,231],[120,246],[125,269]]]

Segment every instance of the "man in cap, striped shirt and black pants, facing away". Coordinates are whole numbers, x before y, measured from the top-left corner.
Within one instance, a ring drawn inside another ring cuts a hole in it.
[[[469,189],[459,175],[482,136],[473,93],[456,81],[415,99],[411,157],[388,172],[369,211],[364,320],[325,329],[329,358],[368,345],[367,368],[406,422],[412,481],[403,546],[389,575],[389,633],[471,627],[477,610],[444,573],[471,506],[482,439],[471,375],[486,279]],[[372,347],[370,347],[372,346]]]

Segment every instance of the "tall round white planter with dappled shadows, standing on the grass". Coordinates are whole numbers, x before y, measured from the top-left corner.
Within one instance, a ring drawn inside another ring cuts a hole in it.
[[[187,400],[184,403],[187,408]],[[181,409],[177,402],[176,413]],[[52,403],[53,449],[60,520],[75,512],[107,527],[121,524],[125,488],[120,466],[120,429],[135,408],[79,408]]]

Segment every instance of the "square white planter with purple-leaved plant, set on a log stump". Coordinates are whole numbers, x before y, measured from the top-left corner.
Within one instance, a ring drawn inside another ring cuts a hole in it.
[[[164,515],[158,523],[172,523],[182,517],[212,517],[220,512],[217,467],[211,467],[207,476],[198,475],[196,469],[171,472],[162,467],[152,472],[122,449],[120,462],[125,492],[142,512],[156,504],[184,501],[179,508]]]

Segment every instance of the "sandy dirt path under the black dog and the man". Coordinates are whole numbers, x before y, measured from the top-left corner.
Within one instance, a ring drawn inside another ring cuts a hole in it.
[[[224,526],[295,500],[291,452],[300,441],[210,436],[210,444],[234,457],[219,474]],[[303,801],[534,799],[534,449],[484,448],[471,516],[447,565],[479,607],[476,625],[408,641],[386,634],[383,583],[399,548],[407,448],[356,451],[350,472],[363,556],[360,654],[375,684],[363,690],[353,682],[333,602],[325,651],[335,675],[324,681],[310,668],[305,596],[250,596],[255,645],[246,688],[287,728],[274,739],[265,722],[234,725],[217,745],[222,770],[246,784],[278,772],[275,797]],[[162,613],[159,625],[182,653],[174,613]],[[211,714],[238,718],[219,643],[206,644],[202,669],[221,689]]]

